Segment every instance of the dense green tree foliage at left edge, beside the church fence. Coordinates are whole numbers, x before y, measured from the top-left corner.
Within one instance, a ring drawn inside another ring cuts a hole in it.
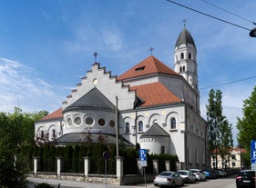
[[[34,124],[46,112],[24,114],[15,108],[13,114],[0,113],[0,187],[26,186],[27,159],[19,157],[21,146],[35,143]]]

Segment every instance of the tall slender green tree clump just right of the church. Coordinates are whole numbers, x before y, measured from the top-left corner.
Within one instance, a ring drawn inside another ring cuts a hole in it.
[[[209,124],[209,148],[212,156],[215,155],[217,168],[218,160],[217,155],[225,161],[229,155],[230,147],[233,146],[232,126],[229,124],[226,117],[222,114],[222,93],[220,90],[210,90],[209,104],[206,106],[207,122]]]

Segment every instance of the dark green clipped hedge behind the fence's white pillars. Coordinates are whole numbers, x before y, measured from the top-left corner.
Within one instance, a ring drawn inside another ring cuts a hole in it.
[[[119,156],[124,158],[124,174],[138,173],[138,149],[120,146]],[[103,153],[108,151],[109,157],[105,161]],[[56,172],[56,157],[61,157],[64,162],[63,173],[84,173],[84,157],[90,157],[90,172],[95,174],[105,173],[105,162],[107,162],[107,173],[116,174],[116,144],[106,145],[104,143],[92,144],[69,144],[67,146],[56,146],[45,144],[43,146],[26,145],[20,149],[18,157],[26,160],[26,168],[33,171],[34,157],[40,158],[40,172]],[[159,160],[159,172],[166,170],[165,161],[170,161],[170,170],[176,171],[178,157],[170,154],[148,154],[146,173],[153,173],[153,159]]]

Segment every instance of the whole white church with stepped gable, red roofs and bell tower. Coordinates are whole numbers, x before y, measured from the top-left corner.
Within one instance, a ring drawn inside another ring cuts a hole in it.
[[[96,61],[61,107],[36,122],[36,138],[57,145],[139,143],[148,153],[177,154],[180,169],[207,168],[208,126],[200,116],[197,68],[186,26],[174,48],[174,70],[149,55],[113,76]]]

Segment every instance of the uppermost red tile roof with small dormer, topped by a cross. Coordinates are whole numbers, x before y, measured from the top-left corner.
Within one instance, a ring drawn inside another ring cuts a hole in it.
[[[133,66],[126,73],[118,76],[118,81],[125,80],[132,77],[138,77],[141,75],[147,74],[173,74],[179,75],[173,70],[169,68],[166,64],[161,63],[156,57],[153,55],[148,56],[148,58],[144,59],[139,64]]]

